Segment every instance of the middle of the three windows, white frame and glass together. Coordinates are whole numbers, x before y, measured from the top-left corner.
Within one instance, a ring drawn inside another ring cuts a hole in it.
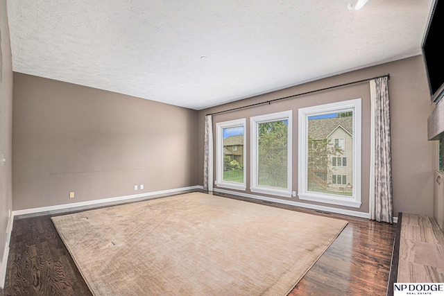
[[[251,117],[251,187],[291,197],[291,111]]]

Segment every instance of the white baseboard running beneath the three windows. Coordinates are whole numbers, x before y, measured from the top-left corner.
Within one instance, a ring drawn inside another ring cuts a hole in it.
[[[237,196],[242,196],[245,198],[255,198],[257,200],[265,200],[268,202],[277,202],[280,204],[288,204],[291,206],[296,206],[296,207],[303,207],[306,209],[315,209],[318,211],[329,211],[331,213],[336,213],[336,214],[343,214],[343,215],[348,215],[348,216],[354,216],[354,217],[359,217],[359,218],[370,218],[370,215],[368,213],[364,213],[361,211],[350,211],[348,209],[337,209],[334,207],[325,207],[325,206],[320,206],[318,204],[306,204],[303,202],[295,202],[293,200],[281,200],[278,198],[267,198],[266,196],[261,196],[261,195],[254,195],[254,194],[248,194],[248,193],[239,193],[236,191],[230,191],[230,190],[224,190],[224,189],[218,189],[215,188],[213,189],[213,191],[215,192],[220,192],[220,193],[226,193],[226,194],[232,194],[232,195],[237,195]],[[398,222],[398,217],[394,217],[393,218],[393,223],[397,223]]]

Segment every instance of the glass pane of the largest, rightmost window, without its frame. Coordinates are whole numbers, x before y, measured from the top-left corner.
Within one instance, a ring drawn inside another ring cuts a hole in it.
[[[307,191],[349,195],[342,185],[352,185],[353,116],[334,112],[307,117]]]

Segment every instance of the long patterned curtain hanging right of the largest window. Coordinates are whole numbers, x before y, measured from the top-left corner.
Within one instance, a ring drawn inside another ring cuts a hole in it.
[[[370,80],[370,219],[393,223],[388,78]]]

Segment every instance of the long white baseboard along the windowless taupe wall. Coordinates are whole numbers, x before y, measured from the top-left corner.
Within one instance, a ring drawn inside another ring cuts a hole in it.
[[[189,187],[182,187],[182,188],[169,189],[169,190],[163,190],[163,191],[154,191],[154,192],[148,192],[148,193],[117,196],[114,198],[103,198],[101,200],[88,200],[87,202],[74,202],[71,204],[58,204],[58,205],[49,206],[49,207],[38,207],[38,208],[33,208],[33,209],[20,209],[17,211],[12,211],[12,216],[35,214],[35,213],[40,213],[42,211],[56,211],[58,209],[70,209],[70,208],[74,208],[74,207],[83,207],[83,206],[88,206],[88,205],[93,205],[93,204],[103,204],[106,202],[119,202],[122,200],[131,200],[134,198],[150,198],[150,197],[155,198],[156,195],[177,193],[180,191],[195,190],[195,189],[203,189],[203,186],[199,186],[199,185],[198,186],[189,186]]]

